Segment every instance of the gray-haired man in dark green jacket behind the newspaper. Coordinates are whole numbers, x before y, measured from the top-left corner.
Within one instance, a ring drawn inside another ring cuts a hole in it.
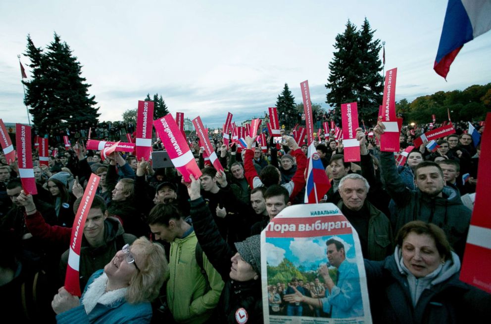
[[[391,222],[366,199],[369,189],[368,181],[361,175],[345,175],[338,185],[341,195],[338,207],[358,233],[363,257],[380,261],[393,251]]]

